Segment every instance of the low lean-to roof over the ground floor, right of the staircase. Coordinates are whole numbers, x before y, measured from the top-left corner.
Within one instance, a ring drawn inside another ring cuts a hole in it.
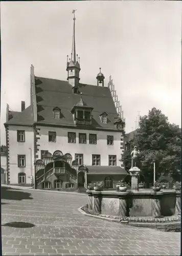
[[[88,168],[87,174],[108,174],[108,175],[128,175],[126,170],[120,166],[93,166],[86,165]]]

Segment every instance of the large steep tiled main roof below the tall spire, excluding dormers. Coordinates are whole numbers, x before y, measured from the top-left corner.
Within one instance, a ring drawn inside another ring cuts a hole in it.
[[[74,105],[80,102],[81,95],[73,94],[69,82],[35,77],[35,87],[38,123],[75,126],[71,110]],[[94,109],[92,111],[92,126],[90,126],[90,129],[92,127],[97,129],[104,127],[105,129],[117,130],[113,123],[118,114],[109,88],[80,83],[79,93],[82,93],[84,103]],[[55,106],[61,109],[60,119],[53,118]],[[108,114],[107,124],[103,124],[100,121],[99,115],[103,112]]]

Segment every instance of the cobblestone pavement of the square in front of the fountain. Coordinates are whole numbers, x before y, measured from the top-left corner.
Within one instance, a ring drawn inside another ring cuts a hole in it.
[[[180,255],[180,233],[84,216],[77,208],[86,202],[86,195],[2,187],[3,255]]]

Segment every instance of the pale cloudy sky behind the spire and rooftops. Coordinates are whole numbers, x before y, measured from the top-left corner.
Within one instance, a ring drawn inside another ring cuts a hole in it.
[[[181,127],[181,1],[1,2],[1,143],[6,104],[30,105],[30,66],[40,77],[66,80],[76,11],[80,82],[111,74],[126,132],[153,107]]]

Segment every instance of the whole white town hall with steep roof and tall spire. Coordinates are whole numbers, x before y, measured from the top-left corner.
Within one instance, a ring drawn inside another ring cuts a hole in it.
[[[21,112],[7,104],[6,147],[8,184],[39,189],[86,189],[89,182],[116,186],[126,172],[125,120],[115,86],[80,82],[80,59],[75,46],[75,14],[67,80],[37,77],[31,66],[30,98]]]

